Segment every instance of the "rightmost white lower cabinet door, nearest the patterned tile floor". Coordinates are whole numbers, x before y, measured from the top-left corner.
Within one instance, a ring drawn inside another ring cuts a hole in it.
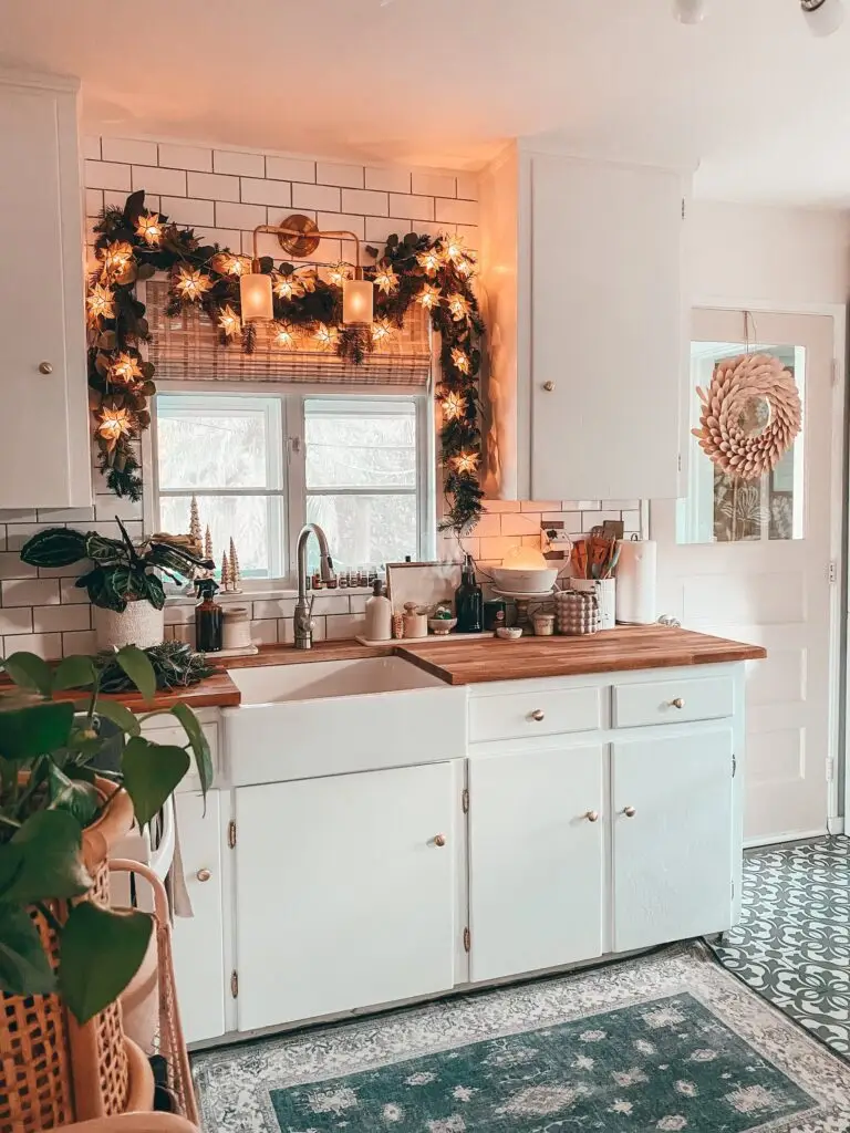
[[[612,746],[614,951],[732,923],[732,731]]]

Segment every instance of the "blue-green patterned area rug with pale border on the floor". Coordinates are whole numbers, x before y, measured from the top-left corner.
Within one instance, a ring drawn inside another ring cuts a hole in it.
[[[698,945],[194,1064],[207,1133],[850,1130],[850,1066]]]

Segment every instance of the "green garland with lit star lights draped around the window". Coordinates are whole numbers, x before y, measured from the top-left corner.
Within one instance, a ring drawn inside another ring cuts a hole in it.
[[[256,330],[252,323],[243,326],[239,299],[239,275],[248,262],[219,245],[202,245],[193,229],[146,210],[144,190],[127,197],[124,208],[104,208],[95,232],[100,266],[90,278],[86,298],[94,438],[110,489],[138,500],[142,479],[133,442],[151,424],[148,399],[156,386],[154,367],[139,351],[151,332],[135,284],[158,271],[168,272],[169,314],[198,305],[219,327],[222,342],[240,335],[243,350],[252,352]],[[377,249],[368,252],[379,256]],[[324,280],[315,269],[275,264],[271,256],[263,256],[260,265],[273,278],[274,317],[284,334],[298,327],[358,365],[375,349],[372,329],[342,325],[340,281]],[[471,287],[474,269],[475,257],[459,238],[410,232],[401,239],[391,236],[377,264],[365,270],[376,283],[373,326],[379,334],[381,327],[400,327],[417,301],[430,310],[440,332],[442,375],[436,392],[447,497],[441,526],[460,535],[475,526],[483,510],[478,340],[484,324]]]

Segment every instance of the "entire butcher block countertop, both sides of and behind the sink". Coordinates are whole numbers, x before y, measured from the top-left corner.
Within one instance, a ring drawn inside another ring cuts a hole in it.
[[[526,681],[640,668],[719,665],[733,661],[760,661],[767,654],[760,646],[663,625],[619,627],[588,637],[526,637],[519,641],[502,641],[499,638],[465,641],[460,637],[451,641],[423,641],[409,646],[402,641],[388,641],[385,647],[377,648],[356,641],[320,641],[312,649],[271,645],[261,646],[260,653],[250,657],[222,657],[218,662],[210,657],[219,671],[189,689],[158,692],[153,700],[147,701],[137,692],[120,692],[109,699],[119,700],[137,713],[171,708],[179,701],[192,708],[236,708],[241,695],[228,675],[228,668],[392,656],[403,657],[447,684],[482,684],[487,681]],[[7,680],[0,679],[0,684],[6,683]],[[79,691],[59,693],[57,699],[79,699],[84,695]]]

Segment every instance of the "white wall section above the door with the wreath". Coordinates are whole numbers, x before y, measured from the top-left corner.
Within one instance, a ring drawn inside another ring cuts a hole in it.
[[[850,212],[694,201],[686,232],[699,301],[848,303]]]

